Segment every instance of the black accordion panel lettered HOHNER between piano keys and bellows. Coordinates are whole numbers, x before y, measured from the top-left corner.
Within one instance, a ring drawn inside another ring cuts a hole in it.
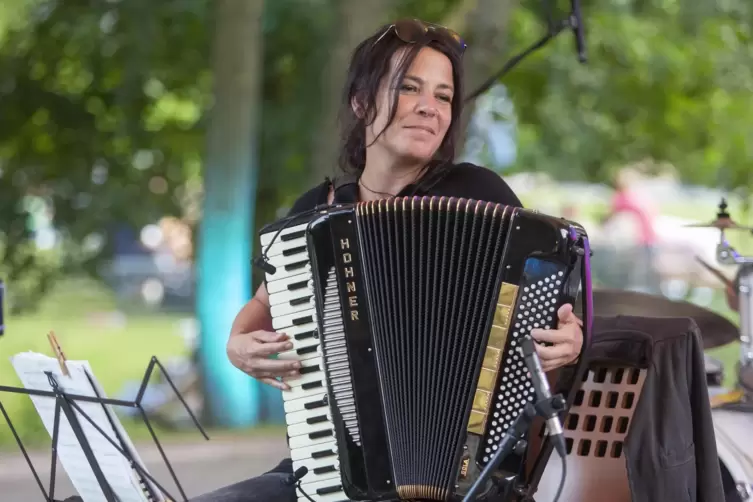
[[[338,440],[340,472],[346,494],[357,500],[392,492],[389,459],[380,453],[387,442],[383,421],[376,361],[371,350],[369,310],[358,244],[356,218],[352,209],[333,211],[310,229],[318,276],[319,326],[327,387]],[[324,263],[321,263],[321,262]],[[324,271],[334,271],[337,280],[326,281]],[[328,304],[339,303],[337,308]],[[330,316],[327,316],[327,312]],[[333,311],[337,315],[331,315]],[[333,326],[342,326],[340,332]],[[358,392],[356,392],[358,389]],[[359,399],[358,394],[369,396]],[[355,415],[352,410],[355,408]],[[358,435],[353,432],[356,430]]]

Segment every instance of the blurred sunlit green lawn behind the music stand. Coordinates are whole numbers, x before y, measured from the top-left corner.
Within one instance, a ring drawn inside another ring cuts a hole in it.
[[[140,382],[152,356],[165,363],[170,357],[187,355],[179,322],[188,315],[150,313],[142,309],[120,317],[117,310],[111,292],[101,285],[69,280],[61,283],[33,315],[6,317],[6,334],[0,337],[0,385],[21,386],[10,364],[14,354],[34,351],[52,355],[46,337],[51,330],[55,331],[68,359],[89,361],[109,397],[115,397],[128,381]],[[158,372],[155,370],[155,376]],[[49,447],[50,436],[28,396],[0,393],[0,402],[25,446]],[[121,417],[121,421],[134,441],[151,441],[140,419]],[[192,426],[175,430],[162,428],[155,421],[152,425],[161,442],[202,440],[199,431]],[[284,434],[284,427],[279,425],[246,430],[205,428],[210,438]],[[0,417],[0,451],[3,450],[17,451],[17,445],[7,423]]]

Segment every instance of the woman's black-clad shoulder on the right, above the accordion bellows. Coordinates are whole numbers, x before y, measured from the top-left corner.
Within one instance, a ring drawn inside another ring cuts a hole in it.
[[[441,192],[447,192],[439,195],[522,207],[517,195],[502,176],[487,167],[471,162],[459,162],[450,166],[437,188]]]

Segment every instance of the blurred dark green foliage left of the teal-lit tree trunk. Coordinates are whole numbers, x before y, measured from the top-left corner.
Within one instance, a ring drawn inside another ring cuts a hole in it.
[[[0,49],[1,266],[16,309],[58,274],[95,271],[117,224],[179,212],[209,90],[203,2],[28,5]],[[30,249],[30,195],[53,208],[54,259]]]

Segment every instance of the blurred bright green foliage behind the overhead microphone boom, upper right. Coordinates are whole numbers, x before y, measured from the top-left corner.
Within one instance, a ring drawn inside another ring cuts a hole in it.
[[[525,5],[510,25],[516,48],[543,34]],[[518,115],[516,169],[603,181],[653,158],[689,182],[748,186],[749,3],[613,0],[589,2],[584,16],[587,65],[565,32],[506,77]]]

